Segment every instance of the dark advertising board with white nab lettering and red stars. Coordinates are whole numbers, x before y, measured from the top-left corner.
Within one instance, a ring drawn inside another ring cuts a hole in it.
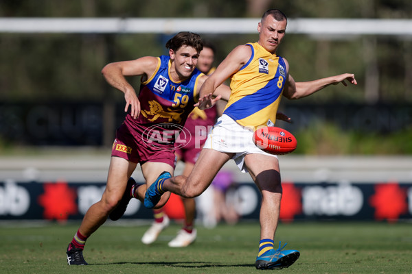
[[[412,218],[412,183],[283,182],[282,185],[280,219],[284,222],[326,219],[396,222]],[[0,219],[82,219],[89,207],[102,197],[104,188],[102,182],[0,182]],[[213,210],[211,195],[207,191],[196,198],[198,217],[207,216]],[[258,220],[261,197],[254,184],[237,183],[226,195],[241,219]],[[184,217],[179,201],[169,201],[165,209],[174,219]],[[123,218],[152,219],[152,211],[134,199]]]

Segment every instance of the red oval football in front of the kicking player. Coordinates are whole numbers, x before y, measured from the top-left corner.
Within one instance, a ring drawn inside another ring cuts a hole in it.
[[[295,136],[280,127],[261,127],[253,134],[253,142],[263,151],[282,155],[296,149]]]

